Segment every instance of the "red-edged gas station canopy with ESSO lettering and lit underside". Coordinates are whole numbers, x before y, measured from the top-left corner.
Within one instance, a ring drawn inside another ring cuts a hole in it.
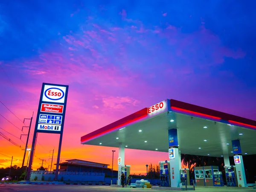
[[[256,121],[166,99],[81,137],[81,144],[147,151],[169,150],[168,129],[177,128],[182,154],[233,156],[232,140],[244,154],[256,154]]]

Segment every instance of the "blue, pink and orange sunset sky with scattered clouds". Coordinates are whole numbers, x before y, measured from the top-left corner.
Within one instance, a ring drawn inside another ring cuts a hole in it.
[[[5,1],[0,6],[0,133],[24,148],[26,137],[20,140],[20,134],[28,129],[19,129],[29,125],[23,118],[34,111],[31,147],[43,82],[69,85],[62,162],[112,164],[117,148],[81,145],[81,136],[164,99],[256,120],[255,4]],[[54,148],[56,163],[58,140],[57,134],[38,134],[34,169],[40,159],[48,168]],[[21,166],[23,153],[0,137],[0,167],[10,166],[12,156],[13,165]],[[145,173],[146,164],[167,158],[162,152],[125,151],[132,173]]]

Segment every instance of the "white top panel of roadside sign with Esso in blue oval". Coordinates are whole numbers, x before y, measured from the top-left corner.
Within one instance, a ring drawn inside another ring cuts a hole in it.
[[[44,85],[44,94],[42,101],[44,102],[65,102],[66,87]]]

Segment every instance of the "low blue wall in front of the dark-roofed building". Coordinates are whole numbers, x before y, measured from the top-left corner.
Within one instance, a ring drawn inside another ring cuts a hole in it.
[[[34,180],[37,177],[37,181],[53,181],[55,174],[54,172],[47,171],[32,171],[30,180]],[[42,179],[44,178],[44,179]],[[105,181],[104,173],[84,173],[84,172],[59,172],[58,180],[63,181],[90,181],[99,182]]]

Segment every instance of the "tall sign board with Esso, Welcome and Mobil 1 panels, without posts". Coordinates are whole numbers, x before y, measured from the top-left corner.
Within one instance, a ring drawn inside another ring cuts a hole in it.
[[[68,85],[43,83],[35,131],[62,134],[67,104]]]

